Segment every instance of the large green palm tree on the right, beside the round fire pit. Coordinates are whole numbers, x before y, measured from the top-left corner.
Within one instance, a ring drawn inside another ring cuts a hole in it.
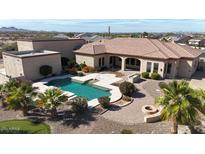
[[[163,106],[162,119],[172,121],[172,133],[178,133],[178,124],[193,125],[199,112],[205,114],[202,99],[187,81],[170,82],[162,90],[164,96],[158,97],[156,103]]]

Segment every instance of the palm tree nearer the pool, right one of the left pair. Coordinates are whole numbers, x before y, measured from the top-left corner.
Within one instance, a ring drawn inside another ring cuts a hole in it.
[[[68,100],[68,97],[58,88],[47,89],[38,95],[37,105],[51,111],[51,116],[57,116],[57,107]]]

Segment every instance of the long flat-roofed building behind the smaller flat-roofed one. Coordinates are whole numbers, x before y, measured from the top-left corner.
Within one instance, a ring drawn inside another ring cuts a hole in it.
[[[48,40],[19,40],[18,50],[51,50],[58,51],[62,57],[73,59],[73,50],[79,49],[85,44],[84,39],[48,39]]]

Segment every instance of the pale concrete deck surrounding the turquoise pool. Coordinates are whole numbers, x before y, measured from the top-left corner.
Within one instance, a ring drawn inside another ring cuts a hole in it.
[[[110,90],[111,96],[110,96],[110,102],[116,102],[118,101],[121,97],[122,94],[119,90],[118,87],[111,85],[114,82],[118,82],[122,80],[122,78],[118,78],[115,76],[115,74],[102,74],[102,73],[92,73],[92,74],[87,74],[86,76],[72,76],[72,75],[63,75],[63,76],[55,76],[55,77],[50,77],[41,80],[40,82],[36,82],[33,84],[34,87],[38,87],[38,92],[44,92],[47,89],[54,88],[53,86],[47,86],[48,82],[56,79],[65,79],[70,77],[73,81],[79,82],[79,83],[85,83],[90,80],[97,80],[97,82],[93,83],[94,86],[99,87],[99,88],[106,88]],[[65,94],[69,97],[69,99],[74,98],[76,95],[72,92],[66,91]],[[92,108],[99,105],[98,99],[93,99],[88,101],[88,107]]]

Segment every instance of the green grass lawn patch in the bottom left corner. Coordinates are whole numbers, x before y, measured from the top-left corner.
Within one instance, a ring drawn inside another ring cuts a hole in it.
[[[50,134],[50,127],[44,123],[33,123],[31,120],[8,120],[0,122],[0,130],[14,129],[9,134]],[[0,131],[4,133],[4,131]],[[5,132],[6,134],[6,132]]]

